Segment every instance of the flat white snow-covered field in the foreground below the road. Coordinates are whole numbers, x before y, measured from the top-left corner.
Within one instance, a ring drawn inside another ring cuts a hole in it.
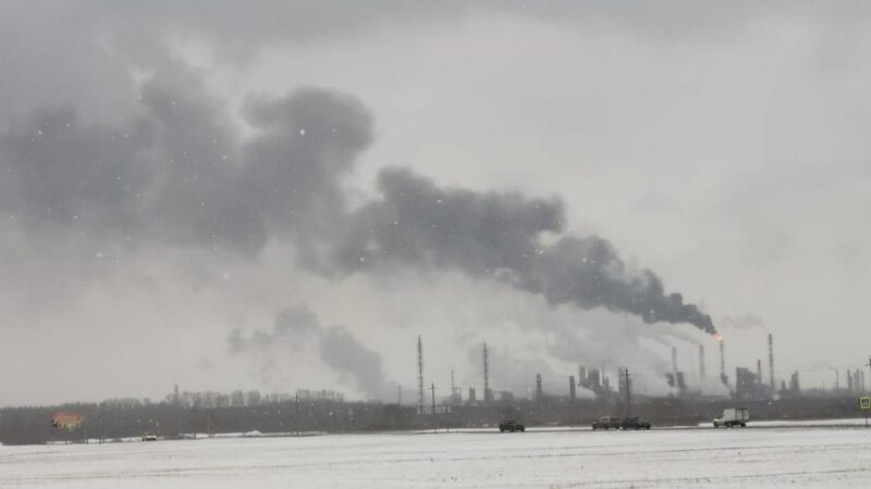
[[[871,429],[464,431],[0,447],[0,487],[868,487]]]

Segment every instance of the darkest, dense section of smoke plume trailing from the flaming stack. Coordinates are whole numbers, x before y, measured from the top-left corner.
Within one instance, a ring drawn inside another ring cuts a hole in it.
[[[334,264],[344,272],[401,263],[459,269],[543,296],[553,304],[602,306],[647,323],[689,323],[714,334],[711,317],[651,271],[633,273],[599,237],[564,234],[556,199],[443,189],[402,168],[379,176],[382,199],[353,215]],[[547,235],[563,235],[545,243]]]

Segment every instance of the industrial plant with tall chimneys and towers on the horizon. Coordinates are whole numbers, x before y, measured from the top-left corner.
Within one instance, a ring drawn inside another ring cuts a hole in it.
[[[671,348],[671,364],[667,372],[630,372],[628,367],[608,368],[602,365],[587,365],[580,362],[576,373],[563,378],[545,378],[536,374],[526,379],[531,386],[527,396],[518,396],[512,390],[493,387],[490,378],[489,352],[487,343],[481,346],[481,372],[483,396],[476,394],[476,387],[464,389],[454,385],[451,372],[450,397],[437,400],[434,384],[427,391],[424,372],[422,340],[418,338],[418,405],[417,422],[433,426],[487,426],[499,417],[520,417],[528,424],[578,424],[588,423],[599,416],[642,415],[659,425],[709,421],[711,413],[719,413],[726,406],[739,402],[749,406],[757,418],[769,419],[812,419],[824,417],[850,417],[857,415],[856,398],[867,393],[864,372],[850,368],[844,372],[845,383],[841,384],[842,373],[833,369],[835,377],[831,388],[803,389],[800,372],[789,373],[780,378],[775,371],[774,338],[768,335],[765,350],[768,358],[758,359],[755,365],[736,366],[734,372],[726,369],[726,348],[722,336],[716,336],[719,350],[719,384],[715,393],[711,392],[706,364],[706,349],[698,346],[698,364],[695,372],[686,372],[678,366],[679,350]],[[695,355],[694,355],[695,356]],[[694,360],[695,362],[695,360]],[[641,387],[646,383],[662,380],[667,393],[649,393]],[[567,389],[565,385],[567,383]],[[549,389],[550,388],[550,389]],[[431,396],[426,397],[427,393]],[[429,402],[425,402],[427,399]]]

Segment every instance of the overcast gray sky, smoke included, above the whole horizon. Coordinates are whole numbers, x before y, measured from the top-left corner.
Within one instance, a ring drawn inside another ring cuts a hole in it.
[[[871,12],[761,3],[3,2],[0,404],[410,398],[417,335],[444,393],[482,341],[499,389],[657,392],[673,344],[716,372],[708,316],[731,376],[771,333],[831,385]]]

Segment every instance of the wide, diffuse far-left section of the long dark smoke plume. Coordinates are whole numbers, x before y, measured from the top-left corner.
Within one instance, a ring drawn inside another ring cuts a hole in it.
[[[341,218],[338,177],[370,143],[369,113],[329,90],[255,100],[246,117],[259,135],[243,145],[201,91],[154,79],[140,114],[116,126],[86,126],[70,109],[35,114],[0,135],[0,205],[32,229],[252,255],[293,234],[311,249],[312,233]]]

